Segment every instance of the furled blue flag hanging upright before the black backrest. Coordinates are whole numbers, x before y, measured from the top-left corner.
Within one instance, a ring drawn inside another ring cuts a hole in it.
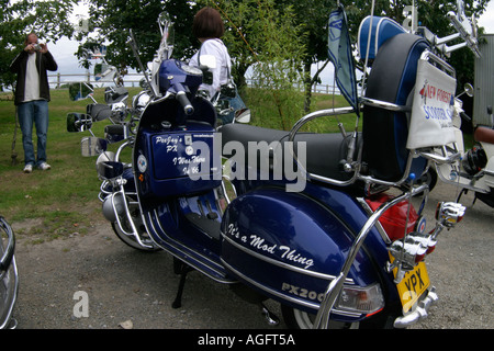
[[[328,29],[328,54],[335,66],[336,84],[356,113],[359,114],[353,57],[351,55],[347,15],[343,5],[329,14]]]

